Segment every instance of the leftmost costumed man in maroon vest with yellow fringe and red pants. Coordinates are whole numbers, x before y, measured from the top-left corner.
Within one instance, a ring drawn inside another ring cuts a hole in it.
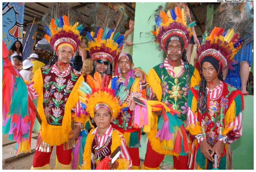
[[[38,112],[42,120],[31,169],[50,169],[50,155],[56,145],[54,169],[72,169],[71,152],[84,123],[84,115],[71,110],[77,107],[78,91],[83,76],[69,62],[80,42],[82,25],[69,24],[68,16],[52,18],[45,26],[45,39],[55,50],[58,61],[41,67],[34,74],[33,88],[38,94]],[[74,120],[74,122],[73,122]]]

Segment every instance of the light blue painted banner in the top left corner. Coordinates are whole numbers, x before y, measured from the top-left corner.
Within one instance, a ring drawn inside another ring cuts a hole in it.
[[[8,49],[15,41],[22,42],[24,22],[24,2],[3,2],[3,41]]]

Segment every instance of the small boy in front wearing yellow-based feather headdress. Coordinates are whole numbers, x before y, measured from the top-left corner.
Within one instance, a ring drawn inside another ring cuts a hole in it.
[[[98,73],[98,72],[96,72]],[[79,99],[97,127],[87,136],[83,164],[80,169],[131,169],[132,163],[122,133],[110,124],[125,106],[129,91],[116,77],[104,75],[102,80],[87,76],[87,83],[79,89]],[[110,154],[121,146],[121,155],[113,164]]]

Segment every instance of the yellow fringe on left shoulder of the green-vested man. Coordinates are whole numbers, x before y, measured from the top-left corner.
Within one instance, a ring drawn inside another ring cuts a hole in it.
[[[154,93],[156,94],[157,100],[161,101],[162,99],[162,88],[161,88],[161,80],[156,74],[155,69],[150,69],[147,82],[149,86],[152,87]]]

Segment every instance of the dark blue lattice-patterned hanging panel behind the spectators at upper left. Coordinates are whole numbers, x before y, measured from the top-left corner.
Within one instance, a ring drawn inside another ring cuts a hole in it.
[[[29,24],[26,28],[26,35],[23,39],[23,60],[26,60],[32,53],[33,47],[36,43],[36,32],[38,30],[38,24]]]

